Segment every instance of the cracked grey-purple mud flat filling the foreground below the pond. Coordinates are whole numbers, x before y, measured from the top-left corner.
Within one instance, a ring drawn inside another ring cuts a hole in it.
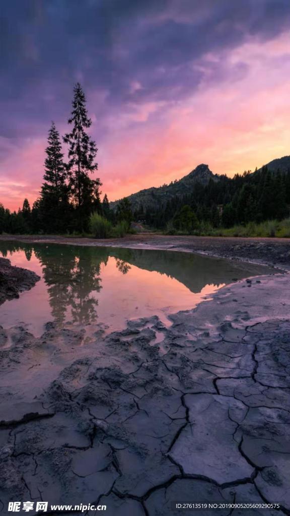
[[[279,274],[224,287],[169,328],[2,329],[3,513],[42,499],[117,516],[180,514],[172,501],[290,514],[289,285]]]

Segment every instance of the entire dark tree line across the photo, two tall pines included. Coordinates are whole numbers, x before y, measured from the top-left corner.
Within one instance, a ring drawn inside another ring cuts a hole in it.
[[[44,176],[40,197],[30,208],[10,212],[0,204],[0,233],[84,233],[94,236],[123,236],[132,220],[158,230],[198,232],[201,227],[229,228],[235,224],[282,220],[289,216],[290,171],[271,172],[267,166],[233,178],[220,175],[207,185],[196,183],[191,191],[176,195],[156,207],[139,204],[132,212],[127,198],[110,209],[107,195],[101,201],[98,149],[88,134],[91,119],[79,83],[74,87],[70,131],[62,137],[68,148],[65,160],[62,142],[52,122],[45,149]]]

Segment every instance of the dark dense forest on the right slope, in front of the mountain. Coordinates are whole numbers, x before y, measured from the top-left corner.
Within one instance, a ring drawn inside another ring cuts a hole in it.
[[[196,183],[183,196],[175,196],[156,208],[140,205],[134,218],[156,229],[195,232],[204,225],[230,228],[235,224],[282,220],[289,216],[290,170],[271,172],[267,166],[233,178],[219,176],[207,185]]]

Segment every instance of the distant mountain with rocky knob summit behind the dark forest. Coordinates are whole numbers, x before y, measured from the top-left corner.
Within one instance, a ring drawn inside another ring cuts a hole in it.
[[[219,181],[219,175],[213,174],[208,165],[201,164],[195,170],[179,181],[174,181],[169,185],[159,186],[158,188],[146,188],[127,198],[130,200],[133,211],[141,205],[144,209],[156,208],[165,205],[174,197],[182,197],[186,193],[190,193],[197,183],[207,185],[210,180]],[[115,209],[119,201],[110,202],[110,207]]]

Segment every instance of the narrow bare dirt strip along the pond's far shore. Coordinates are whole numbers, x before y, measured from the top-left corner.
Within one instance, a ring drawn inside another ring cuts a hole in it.
[[[173,249],[191,251],[280,266],[290,269],[289,238],[224,238],[198,236],[166,236],[152,233],[128,235],[125,238],[96,240],[62,236],[1,236],[0,239],[21,240],[28,242],[51,242],[83,246],[113,246],[128,248]]]

